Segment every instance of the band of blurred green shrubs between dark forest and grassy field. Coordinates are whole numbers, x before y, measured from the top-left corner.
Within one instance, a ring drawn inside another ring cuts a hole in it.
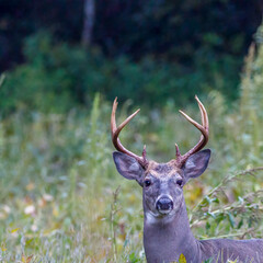
[[[151,58],[140,62],[127,57],[112,60],[95,48],[87,54],[79,46],[56,42],[49,33],[41,32],[26,39],[24,56],[26,62],[7,73],[0,90],[4,114],[21,108],[62,113],[79,105],[90,106],[96,92],[111,101],[117,95],[151,106],[172,102],[183,105],[211,87],[230,98],[229,85],[237,85],[231,68],[238,61],[209,59],[209,53],[198,53],[194,61],[198,70],[191,71]]]

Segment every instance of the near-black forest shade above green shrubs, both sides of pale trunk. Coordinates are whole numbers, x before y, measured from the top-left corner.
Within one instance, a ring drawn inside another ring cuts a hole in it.
[[[34,1],[33,7],[26,0],[0,1],[1,69],[21,61],[24,38],[42,30],[53,31],[60,42],[79,43],[82,0],[56,0],[52,12],[49,0]],[[192,65],[194,54],[204,46],[214,55],[240,57],[262,19],[260,0],[96,0],[95,7],[93,45],[106,56],[152,55],[184,66]]]

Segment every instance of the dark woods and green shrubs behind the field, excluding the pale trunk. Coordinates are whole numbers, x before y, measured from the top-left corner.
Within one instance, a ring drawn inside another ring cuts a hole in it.
[[[81,44],[84,2],[95,3],[89,47]],[[0,0],[0,10],[8,113],[68,112],[90,106],[96,92],[160,106],[216,89],[232,102],[263,11],[261,0],[57,0],[52,8],[49,0]]]

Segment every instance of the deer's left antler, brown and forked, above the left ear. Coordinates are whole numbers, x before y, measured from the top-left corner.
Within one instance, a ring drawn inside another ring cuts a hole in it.
[[[112,108],[112,118],[111,118],[111,130],[112,130],[112,141],[114,147],[116,148],[116,150],[126,153],[133,158],[135,158],[144,168],[147,168],[148,165],[148,160],[146,159],[146,146],[144,147],[142,150],[142,156],[139,157],[137,155],[135,155],[134,152],[127,150],[121,142],[118,135],[122,132],[122,129],[126,126],[127,123],[129,123],[129,121],[135,117],[135,115],[137,115],[139,113],[140,110],[137,110],[134,114],[132,114],[130,116],[128,116],[118,127],[116,125],[116,117],[115,117],[115,113],[117,110],[117,98],[115,98],[114,102],[113,102],[113,108]]]

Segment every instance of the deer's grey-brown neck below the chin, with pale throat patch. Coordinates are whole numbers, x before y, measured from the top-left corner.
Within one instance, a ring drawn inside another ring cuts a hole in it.
[[[199,262],[198,242],[188,224],[184,201],[175,215],[162,218],[145,211],[144,247],[148,263],[169,263],[184,254],[186,262]]]

